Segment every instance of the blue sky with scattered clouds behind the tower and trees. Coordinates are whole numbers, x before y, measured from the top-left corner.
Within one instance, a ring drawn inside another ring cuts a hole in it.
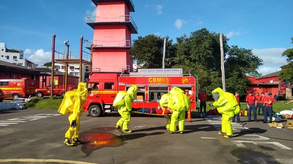
[[[286,64],[281,53],[292,48],[292,0],[132,0],[131,16],[138,27],[132,39],[149,34],[176,37],[201,28],[223,33],[228,45],[238,45],[259,56],[259,73],[280,70]],[[80,36],[92,40],[86,16],[95,15],[91,0],[1,0],[0,42],[8,49],[24,50],[25,57],[42,65],[51,61],[52,35],[55,50],[79,50]],[[85,50],[85,48],[84,48]]]

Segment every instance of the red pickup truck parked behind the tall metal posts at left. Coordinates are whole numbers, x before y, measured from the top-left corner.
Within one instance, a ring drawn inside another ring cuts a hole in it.
[[[74,85],[67,85],[67,91],[70,90],[70,88],[73,88],[73,90],[76,90],[76,87]],[[45,88],[37,88],[36,89],[36,96],[37,97],[43,97],[43,96],[50,96],[51,95],[51,85],[45,87]],[[64,96],[64,85],[54,85],[53,88],[53,96]]]

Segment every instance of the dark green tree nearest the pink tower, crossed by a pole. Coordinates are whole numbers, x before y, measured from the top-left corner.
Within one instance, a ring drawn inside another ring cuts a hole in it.
[[[172,39],[167,37],[165,68],[170,67],[170,60],[173,54]],[[137,65],[142,68],[162,68],[164,38],[155,35],[139,36],[133,40],[133,45],[128,52],[132,60],[136,60]]]

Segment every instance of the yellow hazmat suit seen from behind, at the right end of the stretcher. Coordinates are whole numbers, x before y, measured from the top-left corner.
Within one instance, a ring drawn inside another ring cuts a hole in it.
[[[190,100],[178,87],[172,87],[170,91],[171,103],[172,103],[172,116],[170,123],[170,133],[176,131],[177,119],[179,118],[179,132],[183,133],[184,131],[184,119],[185,111],[188,111],[190,108]]]

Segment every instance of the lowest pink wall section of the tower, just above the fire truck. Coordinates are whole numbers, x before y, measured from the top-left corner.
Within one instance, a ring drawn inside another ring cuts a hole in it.
[[[126,49],[96,49],[92,56],[92,71],[94,72],[117,72],[125,68],[132,68],[132,60]]]

